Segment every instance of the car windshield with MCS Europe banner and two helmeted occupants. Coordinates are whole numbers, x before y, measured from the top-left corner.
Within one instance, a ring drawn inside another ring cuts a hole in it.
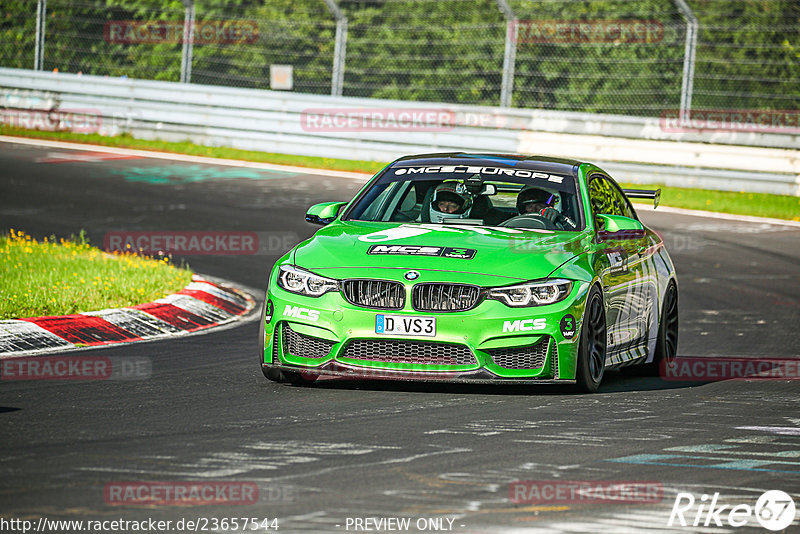
[[[392,166],[347,220],[563,231],[584,227],[574,177],[467,165]]]

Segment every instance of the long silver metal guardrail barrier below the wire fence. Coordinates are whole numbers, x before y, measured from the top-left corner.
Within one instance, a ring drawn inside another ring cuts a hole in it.
[[[0,105],[97,110],[101,133],[360,160],[523,152],[595,161],[620,180],[800,195],[800,134],[670,131],[660,118],[331,97],[0,68]],[[413,110],[446,127],[316,128],[308,114]],[[312,124],[313,126],[313,124]],[[796,132],[787,129],[789,132]]]

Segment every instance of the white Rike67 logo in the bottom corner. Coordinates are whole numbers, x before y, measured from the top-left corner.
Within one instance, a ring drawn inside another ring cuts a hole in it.
[[[730,504],[720,500],[719,492],[702,495],[680,492],[675,497],[667,526],[682,527],[749,527],[755,520],[767,530],[778,532],[794,522],[795,505],[792,497],[780,490],[764,492],[754,506],[747,503]]]

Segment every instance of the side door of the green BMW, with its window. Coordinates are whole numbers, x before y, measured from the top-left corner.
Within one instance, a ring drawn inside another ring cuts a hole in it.
[[[622,190],[609,176],[590,176],[596,242],[600,253],[599,275],[603,285],[608,330],[608,358],[620,363],[643,355],[649,333],[651,269],[645,232],[607,232],[598,215],[637,219]]]

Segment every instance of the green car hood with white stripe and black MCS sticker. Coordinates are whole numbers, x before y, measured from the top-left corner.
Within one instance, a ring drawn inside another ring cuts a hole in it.
[[[374,276],[357,269],[415,269],[511,284],[547,277],[584,252],[585,239],[585,232],[336,221],[298,245],[293,259],[331,278]]]

